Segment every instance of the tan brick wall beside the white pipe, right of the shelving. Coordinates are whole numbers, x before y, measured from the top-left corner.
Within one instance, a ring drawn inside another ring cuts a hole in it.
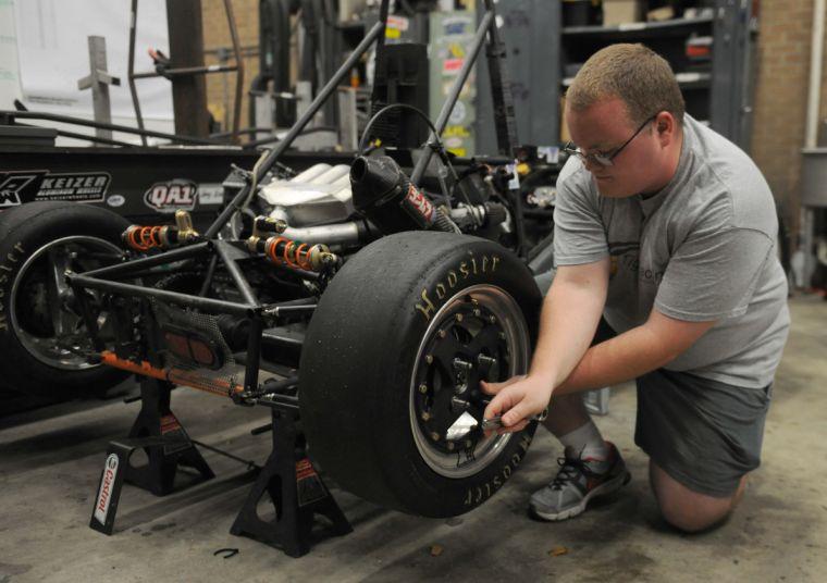
[[[761,2],[752,157],[793,232],[800,211],[812,17],[812,0]],[[820,119],[825,119],[827,76],[822,82]]]

